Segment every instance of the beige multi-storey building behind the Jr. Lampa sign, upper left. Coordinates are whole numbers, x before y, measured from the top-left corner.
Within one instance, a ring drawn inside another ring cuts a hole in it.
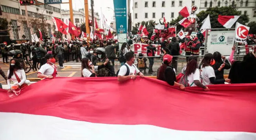
[[[43,4],[44,0],[37,2]],[[29,39],[29,34],[34,32],[29,24],[30,18],[42,18],[44,22],[49,23],[49,35],[53,32],[51,16],[61,18],[60,4],[24,6],[20,5],[18,0],[1,0],[0,6],[2,9],[0,20],[6,18],[11,23],[9,30],[11,39]]]

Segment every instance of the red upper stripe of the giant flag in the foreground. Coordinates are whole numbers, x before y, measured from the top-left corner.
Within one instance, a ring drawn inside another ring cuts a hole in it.
[[[198,87],[181,91],[150,78],[119,83],[117,77],[59,77],[31,84],[13,99],[0,90],[0,112],[186,131],[256,133],[256,84],[208,87],[208,92]]]

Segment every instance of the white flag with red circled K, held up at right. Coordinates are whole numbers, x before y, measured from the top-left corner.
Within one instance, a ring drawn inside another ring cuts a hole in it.
[[[236,23],[235,31],[235,41],[239,43],[246,42],[247,36],[249,34],[250,27],[247,27],[239,22]]]

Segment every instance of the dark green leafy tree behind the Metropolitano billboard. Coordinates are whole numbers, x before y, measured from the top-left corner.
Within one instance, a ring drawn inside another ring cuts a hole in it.
[[[197,14],[197,17],[199,18],[199,23],[202,22],[207,16],[210,14],[210,22],[212,28],[224,28],[223,25],[221,25],[218,22],[218,15],[224,15],[224,16],[238,16],[237,22],[245,25],[249,22],[249,17],[246,14],[241,14],[241,11],[238,11],[234,7],[209,7],[206,11],[201,11]],[[236,24],[232,26],[234,28]]]

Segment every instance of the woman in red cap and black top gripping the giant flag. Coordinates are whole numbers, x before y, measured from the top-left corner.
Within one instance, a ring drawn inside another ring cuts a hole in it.
[[[172,64],[172,56],[170,54],[166,54],[163,57],[163,65],[160,66],[157,72],[157,79],[166,81],[171,86],[177,86],[181,90],[185,90],[185,86],[183,84],[179,84],[176,82],[176,75],[174,72],[174,68],[171,66]]]

